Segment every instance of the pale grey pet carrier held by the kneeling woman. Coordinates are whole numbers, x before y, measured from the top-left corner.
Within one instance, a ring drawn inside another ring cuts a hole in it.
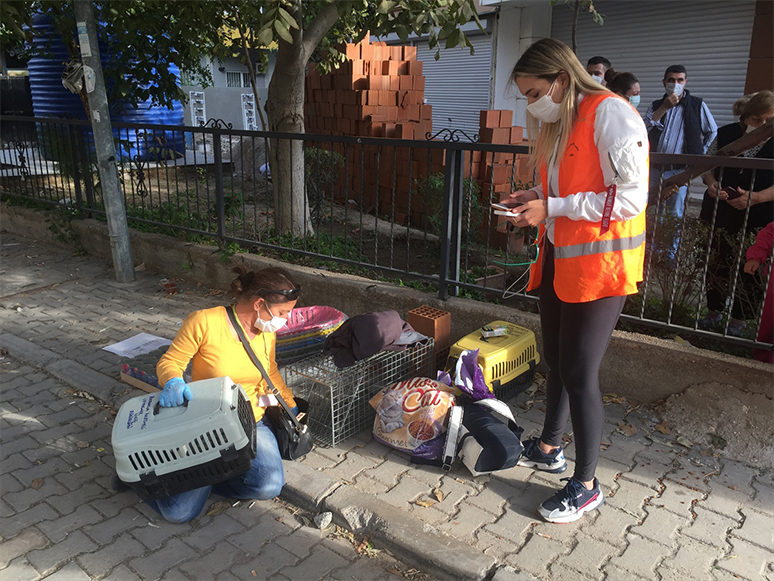
[[[189,387],[186,405],[160,407],[154,393],[118,410],[116,472],[147,500],[228,480],[247,472],[255,458],[255,416],[242,386],[218,377]]]

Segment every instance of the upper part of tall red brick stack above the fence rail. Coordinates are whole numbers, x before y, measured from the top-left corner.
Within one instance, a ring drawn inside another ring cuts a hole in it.
[[[415,46],[369,42],[340,47],[347,60],[329,75],[309,65],[305,125],[309,133],[424,139],[433,108]]]

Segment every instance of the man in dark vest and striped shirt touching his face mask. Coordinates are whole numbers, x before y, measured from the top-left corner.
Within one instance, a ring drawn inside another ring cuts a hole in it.
[[[643,116],[648,128],[650,149],[657,153],[677,153],[703,155],[707,152],[718,131],[707,103],[691,95],[685,88],[688,83],[688,71],[683,65],[672,65],[664,72],[664,89],[661,99],[650,104]],[[666,179],[685,169],[684,164],[667,164],[662,171],[654,168],[650,172],[650,189],[657,195],[661,177]],[[688,192],[682,186],[670,196],[666,209],[678,218],[682,218],[685,209],[685,196]]]

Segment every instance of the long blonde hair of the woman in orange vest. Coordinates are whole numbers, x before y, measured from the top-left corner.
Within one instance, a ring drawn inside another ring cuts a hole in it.
[[[562,116],[559,121],[543,123],[539,131],[539,121],[527,112],[527,134],[532,142],[533,166],[547,164],[556,143],[558,156],[564,153],[578,115],[578,93],[613,94],[589,75],[570,47],[553,38],[543,38],[533,43],[513,67],[511,80],[515,82],[518,77],[537,77],[553,83],[560,73],[567,74],[569,85],[562,97]]]

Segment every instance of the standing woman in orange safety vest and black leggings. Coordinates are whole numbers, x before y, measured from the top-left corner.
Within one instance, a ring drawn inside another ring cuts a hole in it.
[[[567,523],[604,499],[595,477],[605,417],[599,366],[626,296],[642,280],[648,137],[629,103],[591,79],[558,40],[530,46],[512,80],[527,98],[542,185],[503,203],[523,202],[512,210],[517,226],[539,225],[528,288],[538,289],[549,368],[543,431],[524,443],[519,462],[566,470],[562,436],[572,418],[575,472],[538,508],[544,519]]]

